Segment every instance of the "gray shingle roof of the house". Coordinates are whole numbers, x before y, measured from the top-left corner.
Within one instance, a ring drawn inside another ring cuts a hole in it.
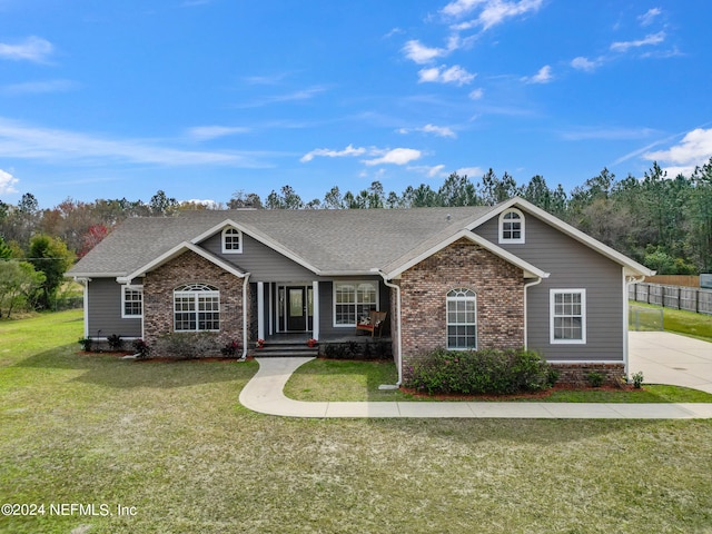
[[[199,210],[123,221],[69,276],[123,276],[226,221],[319,273],[367,273],[455,234],[495,209]]]

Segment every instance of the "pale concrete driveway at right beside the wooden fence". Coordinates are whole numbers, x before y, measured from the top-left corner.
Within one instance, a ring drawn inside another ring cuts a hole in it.
[[[672,384],[712,393],[712,343],[668,332],[629,333],[629,372],[645,384]]]

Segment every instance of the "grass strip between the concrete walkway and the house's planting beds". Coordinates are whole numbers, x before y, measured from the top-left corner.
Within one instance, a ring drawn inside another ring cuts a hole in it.
[[[285,394],[297,400],[438,400],[400,390],[379,390],[398,379],[393,363],[314,359],[297,369]],[[712,394],[680,386],[646,384],[641,389],[552,390],[536,397],[474,397],[482,400],[537,403],[712,403]],[[442,400],[442,399],[441,399]]]

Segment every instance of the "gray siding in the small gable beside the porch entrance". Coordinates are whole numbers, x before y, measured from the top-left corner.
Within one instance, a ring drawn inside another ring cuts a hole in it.
[[[206,250],[250,273],[250,281],[310,281],[319,279],[306,267],[243,234],[241,254],[222,254],[222,233],[200,244]]]

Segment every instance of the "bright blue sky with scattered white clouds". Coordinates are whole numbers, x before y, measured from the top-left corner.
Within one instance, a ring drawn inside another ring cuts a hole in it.
[[[0,0],[0,199],[304,200],[712,156],[708,0]]]

